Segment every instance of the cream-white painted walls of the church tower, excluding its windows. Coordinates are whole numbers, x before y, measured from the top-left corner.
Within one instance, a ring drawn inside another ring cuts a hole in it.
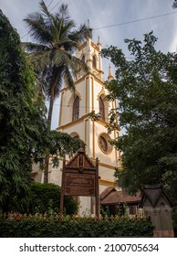
[[[118,152],[112,148],[109,154],[104,154],[99,147],[99,135],[101,133],[107,133],[108,130],[105,127],[104,122],[93,122],[89,119],[89,112],[99,112],[99,96],[106,95],[108,92],[105,89],[104,81],[102,80],[102,59],[99,55],[101,48],[100,42],[95,45],[88,40],[85,47],[81,47],[77,57],[82,58],[83,55],[86,57],[86,61],[89,65],[90,72],[85,76],[78,76],[76,80],[76,91],[75,93],[79,97],[79,119],[72,122],[72,105],[75,94],[73,91],[69,91],[64,88],[60,95],[60,114],[59,114],[59,125],[57,130],[68,134],[78,133],[79,138],[82,139],[86,146],[86,154],[94,162],[95,159],[99,158],[99,176],[100,185],[99,193],[104,191],[106,187],[113,186],[115,182],[114,172],[115,167],[118,166]],[[95,55],[97,59],[97,68],[92,68],[92,56]],[[106,114],[108,115],[109,110],[115,107],[115,102],[106,102]],[[106,120],[107,121],[107,120]],[[115,138],[116,133],[110,133],[111,139]],[[62,175],[62,161],[58,168],[52,168],[49,174],[49,182],[55,183],[61,186],[61,175]],[[80,208],[79,214],[89,213],[91,210],[90,197],[80,197]]]

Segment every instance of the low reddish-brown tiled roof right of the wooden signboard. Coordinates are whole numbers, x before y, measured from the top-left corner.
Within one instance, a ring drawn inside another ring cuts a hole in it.
[[[114,205],[114,204],[138,204],[141,202],[141,193],[136,196],[130,196],[125,191],[117,191],[115,187],[107,187],[99,195],[100,205]]]

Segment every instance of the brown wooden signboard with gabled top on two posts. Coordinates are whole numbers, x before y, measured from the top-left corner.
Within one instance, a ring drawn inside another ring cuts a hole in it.
[[[64,197],[83,196],[96,198],[96,216],[99,217],[99,161],[94,165],[84,149],[79,149],[66,165],[63,161],[60,212],[63,212]]]

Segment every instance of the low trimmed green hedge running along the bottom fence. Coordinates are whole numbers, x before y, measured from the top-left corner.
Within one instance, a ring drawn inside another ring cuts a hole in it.
[[[0,219],[3,238],[148,238],[152,234],[151,222],[143,219]]]

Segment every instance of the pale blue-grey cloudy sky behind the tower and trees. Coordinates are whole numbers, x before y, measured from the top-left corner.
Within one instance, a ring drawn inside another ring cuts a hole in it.
[[[39,11],[39,0],[0,0],[0,9],[16,28],[22,41],[30,41],[23,19]],[[173,0],[45,0],[51,12],[57,11],[61,3],[68,4],[70,16],[77,27],[86,23],[93,28],[93,41],[98,37],[102,48],[110,45],[121,48],[129,58],[125,38],[142,40],[143,34],[153,31],[158,37],[156,48],[162,52],[177,49],[177,8]],[[103,59],[105,74],[108,60]],[[104,77],[107,80],[107,77]],[[57,128],[59,101],[53,112],[52,129]]]

